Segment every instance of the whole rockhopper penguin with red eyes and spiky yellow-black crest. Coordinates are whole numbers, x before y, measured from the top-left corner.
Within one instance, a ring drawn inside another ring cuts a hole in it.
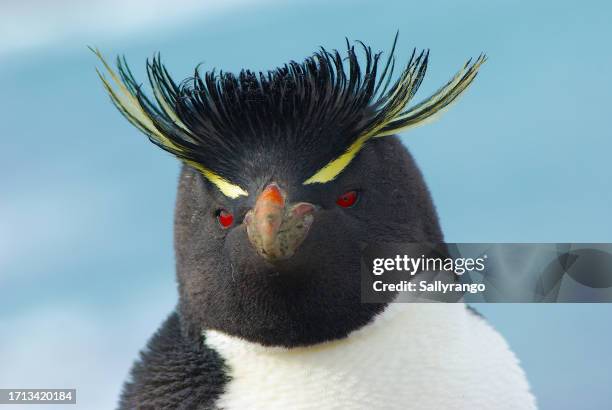
[[[363,243],[443,241],[395,134],[446,108],[485,61],[410,105],[429,53],[395,78],[394,49],[321,48],[181,83],[156,56],[152,97],[125,59],[115,69],[94,50],[113,103],[183,163],[178,306],[120,409],[535,408],[505,341],[463,304],[361,303]]]

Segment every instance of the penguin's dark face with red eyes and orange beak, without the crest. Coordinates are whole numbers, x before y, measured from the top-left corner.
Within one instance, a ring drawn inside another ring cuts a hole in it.
[[[236,199],[182,171],[179,307],[194,337],[216,329],[288,347],[345,337],[384,308],[361,303],[364,246],[442,240],[421,175],[394,138],[370,143],[326,184],[269,169],[248,184],[257,195]]]

